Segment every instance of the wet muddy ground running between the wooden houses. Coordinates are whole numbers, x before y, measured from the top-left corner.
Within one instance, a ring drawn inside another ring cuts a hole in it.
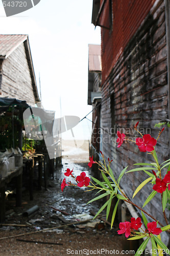
[[[15,193],[9,194],[6,202],[5,225],[0,226],[0,255],[46,256],[46,255],[113,255],[128,249],[124,235],[117,234],[118,226],[110,226],[101,221],[86,222],[79,225],[67,225],[92,219],[91,211],[97,212],[102,202],[95,201],[87,205],[94,197],[93,191],[85,188],[65,187],[61,191],[61,182],[67,168],[74,168],[77,176],[83,170],[92,176],[88,167],[88,141],[76,148],[70,141],[63,143],[63,166],[58,166],[54,179],[48,179],[47,190],[39,191],[34,182],[34,200],[30,201],[28,189],[23,190],[22,206],[15,207]],[[23,216],[31,207],[38,209],[30,216]],[[54,210],[57,208],[67,213]],[[105,212],[102,212],[105,215]],[[103,216],[103,219],[106,219]],[[15,224],[15,225],[14,225]],[[18,226],[17,226],[18,225]],[[20,225],[25,225],[20,227]],[[54,228],[55,227],[55,228]],[[46,231],[42,231],[47,229]]]

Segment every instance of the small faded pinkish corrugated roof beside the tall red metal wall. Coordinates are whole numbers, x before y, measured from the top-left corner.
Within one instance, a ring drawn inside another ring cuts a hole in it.
[[[101,45],[88,45],[88,70],[102,71]]]

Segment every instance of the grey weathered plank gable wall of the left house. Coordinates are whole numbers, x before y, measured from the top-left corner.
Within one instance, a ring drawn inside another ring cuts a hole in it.
[[[31,105],[35,103],[30,69],[23,44],[3,61],[2,97],[6,96],[26,100]]]

